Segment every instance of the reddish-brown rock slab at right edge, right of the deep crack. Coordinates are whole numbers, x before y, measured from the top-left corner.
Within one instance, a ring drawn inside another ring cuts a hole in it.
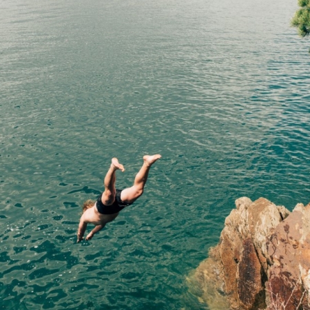
[[[310,270],[309,214],[302,204],[280,223],[267,242],[271,258],[267,281],[269,309],[296,310],[302,304],[310,309],[308,275]]]

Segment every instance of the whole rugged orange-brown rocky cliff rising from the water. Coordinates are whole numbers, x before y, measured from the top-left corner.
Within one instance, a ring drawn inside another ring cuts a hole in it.
[[[310,310],[310,204],[239,198],[194,279],[212,310]]]

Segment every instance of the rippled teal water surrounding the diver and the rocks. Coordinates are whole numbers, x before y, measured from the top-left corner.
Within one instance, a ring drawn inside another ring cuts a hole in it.
[[[0,3],[0,309],[207,309],[186,277],[234,200],[309,203],[296,1]],[[116,156],[145,194],[90,242]]]

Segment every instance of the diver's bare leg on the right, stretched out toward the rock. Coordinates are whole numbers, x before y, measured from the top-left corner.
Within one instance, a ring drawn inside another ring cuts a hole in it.
[[[133,203],[134,200],[139,198],[143,194],[144,185],[147,182],[147,176],[149,175],[149,169],[159,159],[161,155],[145,155],[143,156],[143,165],[134,178],[134,185],[126,188],[121,192],[121,200],[125,203]]]

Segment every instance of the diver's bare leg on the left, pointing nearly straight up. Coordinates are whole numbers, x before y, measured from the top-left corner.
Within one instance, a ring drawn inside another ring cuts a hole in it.
[[[112,158],[112,163],[110,165],[110,169],[107,171],[107,174],[105,175],[104,185],[105,185],[105,191],[103,192],[101,196],[101,201],[104,205],[112,205],[115,200],[115,182],[116,182],[116,170],[121,170],[121,172],[125,171],[125,168],[123,165],[118,163],[117,158]]]

